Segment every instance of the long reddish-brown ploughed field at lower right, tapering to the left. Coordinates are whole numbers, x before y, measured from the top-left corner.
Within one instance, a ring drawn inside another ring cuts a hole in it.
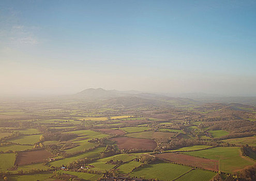
[[[218,171],[219,170],[219,160],[198,158],[184,154],[176,153],[163,153],[157,154],[156,157],[159,159],[164,159],[176,163],[182,163],[185,165],[191,165],[192,167],[201,167],[207,170]]]

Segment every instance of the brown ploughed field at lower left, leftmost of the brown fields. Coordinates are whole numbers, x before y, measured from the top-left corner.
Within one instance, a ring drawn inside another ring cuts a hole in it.
[[[16,164],[18,166],[31,164],[31,163],[39,163],[47,161],[47,158],[52,157],[53,155],[47,152],[47,150],[36,150],[32,152],[22,152],[18,155],[16,159]]]

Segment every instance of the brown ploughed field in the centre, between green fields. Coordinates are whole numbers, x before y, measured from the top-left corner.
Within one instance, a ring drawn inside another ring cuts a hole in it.
[[[149,139],[116,137],[111,140],[116,142],[119,149],[155,149],[157,146],[154,140]]]

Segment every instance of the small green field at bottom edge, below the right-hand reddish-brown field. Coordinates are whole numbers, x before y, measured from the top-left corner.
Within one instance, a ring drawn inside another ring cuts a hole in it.
[[[177,181],[208,181],[216,175],[215,172],[205,170],[192,170],[191,172],[178,178]]]

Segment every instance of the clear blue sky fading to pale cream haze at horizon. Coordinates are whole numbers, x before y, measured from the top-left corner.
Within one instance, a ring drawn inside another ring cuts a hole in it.
[[[256,96],[256,1],[0,1],[0,95]]]

